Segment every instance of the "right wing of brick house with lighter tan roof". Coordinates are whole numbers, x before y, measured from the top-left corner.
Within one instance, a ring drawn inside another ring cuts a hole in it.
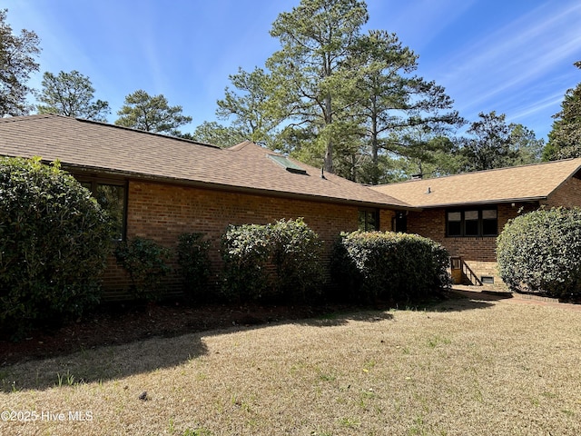
[[[397,231],[444,245],[455,282],[501,284],[496,241],[509,219],[549,207],[581,206],[581,159],[463,173],[372,187],[419,209],[399,212]]]

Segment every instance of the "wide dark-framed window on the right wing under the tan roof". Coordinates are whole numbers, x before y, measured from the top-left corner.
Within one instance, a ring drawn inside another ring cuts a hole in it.
[[[447,211],[446,235],[451,237],[497,236],[498,217],[496,209]]]

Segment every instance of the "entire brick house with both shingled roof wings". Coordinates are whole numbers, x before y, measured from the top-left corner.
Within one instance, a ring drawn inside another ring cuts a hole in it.
[[[173,247],[181,233],[205,233],[215,271],[229,224],[303,217],[326,259],[340,232],[419,233],[448,249],[457,282],[499,284],[496,239],[509,219],[581,206],[581,159],[369,188],[250,142],[221,149],[53,114],[0,119],[0,155],[59,160],[113,215],[119,240]],[[112,299],[128,284],[113,258],[103,284]]]

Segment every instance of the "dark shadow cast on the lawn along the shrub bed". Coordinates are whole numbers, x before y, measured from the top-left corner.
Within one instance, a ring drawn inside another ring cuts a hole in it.
[[[44,390],[58,386],[123,379],[128,376],[172,368],[208,353],[202,336],[261,329],[280,323],[333,327],[356,322],[391,321],[394,311],[459,312],[491,307],[502,296],[482,292],[448,292],[446,298],[414,304],[383,304],[374,308],[335,306],[312,312],[304,318],[266,319],[244,315],[235,323],[212,331],[176,332],[170,337],[154,336],[133,342],[103,345],[53,357],[0,366],[0,390]],[[212,323],[210,322],[212,325]],[[233,324],[233,326],[232,326]],[[205,324],[204,324],[205,325]]]

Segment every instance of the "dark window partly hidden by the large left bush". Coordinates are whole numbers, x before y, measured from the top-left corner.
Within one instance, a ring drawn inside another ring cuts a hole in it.
[[[109,213],[113,220],[113,238],[122,241],[125,236],[125,183],[101,180],[81,180],[80,183]]]

